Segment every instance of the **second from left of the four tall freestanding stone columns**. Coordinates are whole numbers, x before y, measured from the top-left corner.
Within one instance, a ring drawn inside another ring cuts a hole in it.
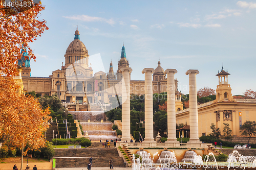
[[[145,142],[154,141],[153,130],[153,89],[152,74],[155,72],[153,68],[144,68],[142,74],[145,74]]]

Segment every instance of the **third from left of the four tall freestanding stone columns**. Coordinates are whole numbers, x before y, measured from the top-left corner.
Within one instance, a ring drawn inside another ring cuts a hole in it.
[[[167,130],[168,138],[166,142],[178,143],[176,138],[176,110],[175,110],[175,81],[174,75],[178,71],[176,69],[166,69],[167,74]]]

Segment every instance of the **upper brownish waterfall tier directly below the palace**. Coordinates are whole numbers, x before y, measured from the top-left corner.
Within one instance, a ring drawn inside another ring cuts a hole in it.
[[[105,113],[103,111],[69,111],[76,120],[105,120]]]

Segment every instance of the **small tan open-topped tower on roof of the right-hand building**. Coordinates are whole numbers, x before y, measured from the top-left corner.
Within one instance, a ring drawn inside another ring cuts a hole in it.
[[[216,102],[232,102],[234,99],[231,94],[231,87],[228,84],[227,77],[230,75],[227,71],[224,71],[223,66],[221,72],[218,71],[219,85],[216,89]]]

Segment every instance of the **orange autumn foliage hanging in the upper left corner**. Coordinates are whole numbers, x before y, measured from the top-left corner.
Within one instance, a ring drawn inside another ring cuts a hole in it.
[[[41,3],[33,4],[32,0],[20,1],[16,6],[11,0],[8,7],[5,1],[0,0],[0,75],[17,75],[17,60],[21,59],[22,46],[27,47],[31,59],[35,59],[28,43],[48,30],[45,20],[37,18],[45,7]],[[24,7],[26,2],[26,7]],[[27,3],[31,3],[29,8]],[[13,5],[13,6],[12,6]],[[24,44],[23,44],[24,43]],[[27,58],[28,59],[28,58]]]

